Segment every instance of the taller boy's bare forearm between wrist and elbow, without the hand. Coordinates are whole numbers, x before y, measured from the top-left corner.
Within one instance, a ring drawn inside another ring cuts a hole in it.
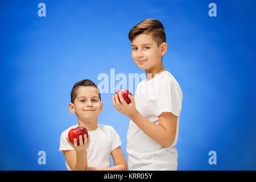
[[[151,139],[161,144],[164,147],[168,147],[170,144],[170,137],[168,137],[166,129],[163,126],[157,125],[147,118],[143,117],[138,111],[130,116],[130,119]]]

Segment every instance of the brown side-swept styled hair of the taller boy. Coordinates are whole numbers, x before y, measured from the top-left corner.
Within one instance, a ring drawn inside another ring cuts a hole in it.
[[[151,34],[152,39],[160,46],[166,42],[166,32],[164,31],[163,24],[157,19],[145,19],[131,28],[128,37],[131,42],[135,36],[139,34]]]

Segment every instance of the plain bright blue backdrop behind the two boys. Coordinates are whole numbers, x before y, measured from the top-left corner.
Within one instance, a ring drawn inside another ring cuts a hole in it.
[[[40,2],[46,17],[38,16]],[[217,17],[208,15],[211,2]],[[77,123],[68,110],[72,86],[85,78],[99,84],[97,76],[110,77],[112,68],[143,73],[128,32],[155,18],[166,30],[164,67],[183,92],[177,169],[255,170],[255,9],[253,0],[1,0],[0,169],[66,170],[59,142]],[[98,123],[118,132],[127,160],[129,118],[115,110],[112,95],[101,94]],[[39,151],[46,165],[38,164]]]

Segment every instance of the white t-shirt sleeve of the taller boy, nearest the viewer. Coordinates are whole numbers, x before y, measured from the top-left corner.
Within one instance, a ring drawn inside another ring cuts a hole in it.
[[[175,82],[160,83],[156,98],[156,114],[159,116],[163,112],[171,112],[180,117],[182,97],[180,86]]]

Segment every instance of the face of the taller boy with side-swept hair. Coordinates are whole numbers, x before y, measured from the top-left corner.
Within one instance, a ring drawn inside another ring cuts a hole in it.
[[[163,43],[162,43],[163,44]],[[163,48],[158,46],[151,34],[139,34],[131,42],[134,63],[141,69],[151,69],[162,64]]]

